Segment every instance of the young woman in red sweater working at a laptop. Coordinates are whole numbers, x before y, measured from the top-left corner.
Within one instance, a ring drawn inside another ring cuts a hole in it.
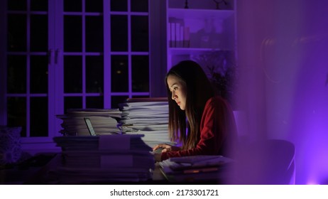
[[[168,130],[182,147],[158,144],[155,161],[170,157],[222,155],[231,157],[236,144],[236,123],[228,102],[215,95],[202,67],[192,60],[173,66],[165,77],[168,90]]]

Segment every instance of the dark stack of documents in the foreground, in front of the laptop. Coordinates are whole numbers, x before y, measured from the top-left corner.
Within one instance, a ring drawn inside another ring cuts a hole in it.
[[[58,136],[62,166],[53,174],[60,183],[147,181],[155,168],[143,135]]]

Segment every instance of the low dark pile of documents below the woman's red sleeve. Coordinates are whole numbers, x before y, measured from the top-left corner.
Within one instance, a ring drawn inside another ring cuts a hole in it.
[[[224,156],[183,156],[161,161],[160,171],[170,182],[224,183],[231,178],[233,162]]]

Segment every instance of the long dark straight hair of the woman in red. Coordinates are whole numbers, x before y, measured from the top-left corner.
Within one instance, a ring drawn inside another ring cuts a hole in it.
[[[181,110],[172,99],[168,87],[168,75],[175,75],[185,82],[187,89],[185,110]],[[202,67],[192,60],[184,60],[173,66],[165,77],[165,83],[168,92],[170,138],[182,142],[182,149],[192,149],[200,138],[199,127],[204,106],[207,100],[214,96],[212,84]]]

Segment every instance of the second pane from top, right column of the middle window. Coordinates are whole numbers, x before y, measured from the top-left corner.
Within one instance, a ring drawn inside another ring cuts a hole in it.
[[[87,52],[103,52],[104,24],[102,16],[86,16],[85,21]]]

